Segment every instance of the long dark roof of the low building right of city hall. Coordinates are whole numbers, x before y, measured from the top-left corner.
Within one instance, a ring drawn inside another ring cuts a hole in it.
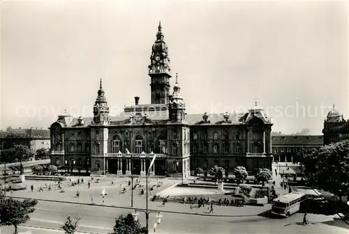
[[[322,135],[283,135],[272,136],[272,146],[322,146]]]

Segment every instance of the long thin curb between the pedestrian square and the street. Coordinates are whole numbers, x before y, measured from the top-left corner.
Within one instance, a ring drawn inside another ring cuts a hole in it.
[[[54,201],[54,200],[48,200],[48,199],[23,198],[23,197],[18,197],[18,196],[8,196],[8,197],[17,198],[17,199],[35,199],[37,201],[47,201],[47,202],[52,202],[52,203],[67,203],[67,204],[73,204],[73,205],[98,206],[98,207],[103,207],[103,208],[117,208],[117,209],[124,209],[124,210],[143,210],[143,211],[146,210],[144,208],[131,208],[131,207],[123,207],[123,206],[117,206],[117,205],[96,205],[96,204],[88,204],[88,203],[77,203],[77,202],[73,202],[73,201]],[[151,210],[151,209],[148,209],[148,211],[164,212],[164,213],[170,213],[170,214],[188,214],[188,215],[207,216],[207,217],[256,217],[256,216],[259,216],[259,214],[245,214],[245,215],[198,214],[198,213],[171,211],[171,210]]]

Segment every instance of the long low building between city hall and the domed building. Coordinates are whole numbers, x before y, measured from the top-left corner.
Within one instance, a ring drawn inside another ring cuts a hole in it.
[[[272,136],[272,153],[274,162],[298,162],[297,153],[301,148],[320,148],[322,146],[322,135]]]

